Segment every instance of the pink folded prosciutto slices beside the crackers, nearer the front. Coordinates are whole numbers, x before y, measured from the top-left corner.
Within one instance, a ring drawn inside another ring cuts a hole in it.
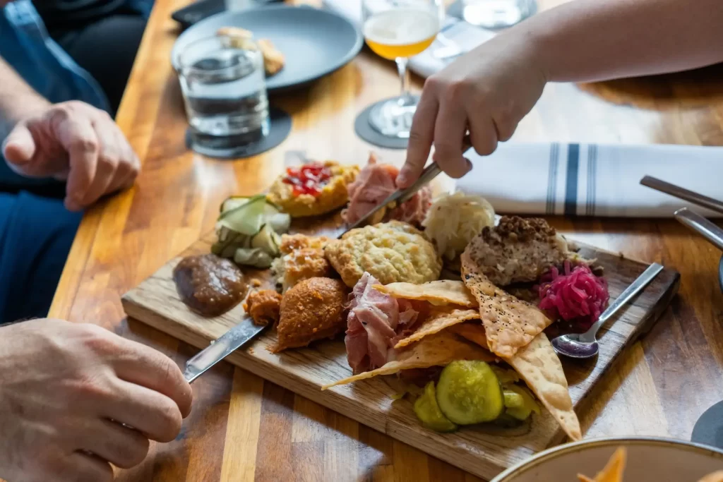
[[[419,314],[411,301],[380,293],[372,288],[375,284],[379,280],[365,272],[349,295],[344,343],[354,374],[387,363],[396,340],[411,330]]]

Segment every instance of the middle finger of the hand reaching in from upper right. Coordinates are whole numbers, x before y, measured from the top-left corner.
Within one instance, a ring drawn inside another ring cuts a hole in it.
[[[443,103],[435,123],[434,160],[452,178],[469,172],[469,162],[463,158],[462,139],[467,132],[467,118],[451,103]]]

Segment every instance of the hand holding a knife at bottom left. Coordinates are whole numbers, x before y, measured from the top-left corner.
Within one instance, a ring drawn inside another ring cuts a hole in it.
[[[93,324],[2,327],[0,478],[112,481],[110,464],[137,465],[148,439],[179,434],[192,396],[170,358]]]

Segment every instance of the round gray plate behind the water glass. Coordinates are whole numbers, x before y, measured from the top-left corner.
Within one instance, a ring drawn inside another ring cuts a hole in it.
[[[286,57],[281,72],[266,78],[269,92],[300,87],[334,72],[354,59],[364,45],[359,30],[345,18],[311,7],[263,7],[215,14],[179,35],[171,61],[194,40],[215,35],[220,27],[251,30],[255,38],[268,38]]]

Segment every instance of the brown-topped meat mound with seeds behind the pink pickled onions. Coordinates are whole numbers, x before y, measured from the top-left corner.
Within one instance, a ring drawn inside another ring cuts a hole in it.
[[[535,281],[565,259],[581,260],[547,221],[519,216],[503,216],[499,225],[484,228],[465,252],[497,286]]]

